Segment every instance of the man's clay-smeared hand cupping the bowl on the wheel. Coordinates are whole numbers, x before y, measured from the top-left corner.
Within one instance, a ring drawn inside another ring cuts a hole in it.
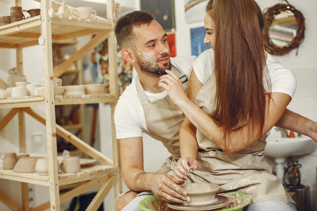
[[[180,204],[188,202],[189,197],[186,191],[173,180],[172,175],[153,174],[149,180],[150,189],[162,201]]]

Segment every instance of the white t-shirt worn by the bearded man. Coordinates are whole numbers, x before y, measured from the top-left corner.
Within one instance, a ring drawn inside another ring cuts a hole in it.
[[[195,60],[195,56],[174,57],[171,58],[171,64],[189,78]],[[145,95],[150,102],[154,102],[165,98],[168,93],[167,91],[156,94],[145,92]],[[122,93],[115,106],[114,123],[117,139],[142,137],[143,133],[149,134],[143,107],[136,89],[135,77],[133,77],[131,85]]]

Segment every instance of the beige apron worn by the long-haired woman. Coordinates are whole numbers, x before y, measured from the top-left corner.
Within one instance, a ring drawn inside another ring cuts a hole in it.
[[[212,74],[195,97],[194,103],[211,114],[215,105],[215,92],[215,77]],[[197,130],[197,160],[200,167],[193,172],[191,182],[215,183],[220,186],[220,192],[234,190],[250,194],[253,203],[264,200],[294,202],[279,179],[271,174],[272,168],[264,159],[266,137],[264,135],[238,153],[228,154]],[[173,169],[174,164],[171,166]]]

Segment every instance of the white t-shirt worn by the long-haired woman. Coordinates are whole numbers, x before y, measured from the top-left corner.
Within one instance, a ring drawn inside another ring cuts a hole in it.
[[[267,54],[266,66],[271,81],[271,93],[285,93],[292,98],[296,90],[296,79],[293,72],[290,69],[283,67],[279,62],[276,62],[269,54]],[[203,84],[205,84],[213,72],[213,67],[213,49],[209,49],[201,53],[192,66],[197,78]],[[266,91],[269,90],[267,88],[268,86],[266,85],[266,81],[264,81],[264,87]]]

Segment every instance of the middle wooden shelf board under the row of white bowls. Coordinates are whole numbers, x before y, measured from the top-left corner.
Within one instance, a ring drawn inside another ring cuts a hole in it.
[[[102,94],[100,97],[72,97],[55,99],[55,105],[75,105],[115,102],[114,95]],[[0,108],[23,108],[44,105],[44,97],[30,97],[0,100]]]

